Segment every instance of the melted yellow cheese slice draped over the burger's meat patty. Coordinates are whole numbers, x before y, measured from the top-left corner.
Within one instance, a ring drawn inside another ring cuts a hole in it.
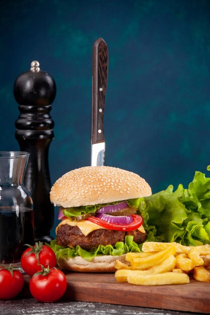
[[[78,226],[79,229],[81,230],[81,232],[87,236],[90,232],[96,230],[96,229],[100,229],[100,228],[103,228],[103,229],[107,229],[105,227],[102,227],[96,223],[93,223],[91,221],[87,221],[87,220],[82,220],[82,221],[70,221],[69,219],[64,219],[62,220],[58,226],[56,227],[56,230],[55,232],[57,233],[57,230],[58,228],[63,225],[63,224],[68,224],[68,225],[71,225],[71,226]],[[145,229],[144,229],[144,226],[141,225],[137,228],[140,232],[142,233],[145,233]]]

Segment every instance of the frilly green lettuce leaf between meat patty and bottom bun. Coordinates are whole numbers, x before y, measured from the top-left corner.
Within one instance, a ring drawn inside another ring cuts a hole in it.
[[[82,258],[91,261],[97,255],[111,255],[111,256],[121,256],[128,252],[139,253],[141,250],[138,245],[133,242],[133,237],[131,235],[126,235],[125,242],[117,242],[115,246],[107,245],[99,245],[99,247],[95,251],[86,251],[83,250],[80,246],[76,248],[64,248],[62,246],[57,245],[56,240],[47,244],[55,253],[57,260],[61,257],[73,258],[76,256],[81,256]]]

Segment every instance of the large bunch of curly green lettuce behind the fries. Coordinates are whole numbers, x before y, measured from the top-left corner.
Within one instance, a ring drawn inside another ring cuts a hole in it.
[[[207,167],[210,170],[210,166]],[[147,241],[210,244],[210,178],[195,172],[188,189],[170,185],[139,204]]]

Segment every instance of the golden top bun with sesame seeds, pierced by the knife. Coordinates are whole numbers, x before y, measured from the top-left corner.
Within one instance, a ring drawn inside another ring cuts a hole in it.
[[[63,208],[95,205],[152,194],[135,173],[109,166],[88,166],[64,174],[52,186],[50,200]]]

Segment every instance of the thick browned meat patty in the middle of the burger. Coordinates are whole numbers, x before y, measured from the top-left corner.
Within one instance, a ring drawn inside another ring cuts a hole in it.
[[[137,244],[143,243],[147,237],[147,233],[142,233],[137,229],[126,232],[103,228],[94,230],[85,236],[78,226],[63,224],[57,230],[56,240],[57,245],[63,247],[75,248],[79,245],[84,250],[92,251],[99,245],[114,246],[116,242],[124,242],[126,235],[133,235],[133,241]]]

